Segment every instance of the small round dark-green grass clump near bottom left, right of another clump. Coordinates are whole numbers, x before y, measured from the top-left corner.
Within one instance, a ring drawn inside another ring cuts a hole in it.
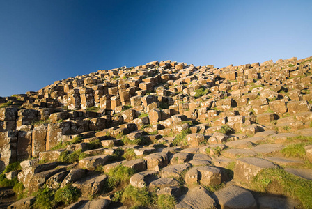
[[[80,190],[69,184],[55,192],[55,201],[69,205],[70,203],[77,201],[79,196],[81,196]]]

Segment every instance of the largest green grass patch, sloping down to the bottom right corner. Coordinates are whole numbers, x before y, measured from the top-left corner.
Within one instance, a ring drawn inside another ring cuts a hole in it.
[[[263,169],[251,183],[257,192],[279,193],[298,199],[304,208],[312,207],[312,181],[299,178],[283,169]]]

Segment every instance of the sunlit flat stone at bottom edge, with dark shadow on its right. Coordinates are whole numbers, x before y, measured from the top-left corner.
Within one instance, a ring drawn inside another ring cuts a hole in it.
[[[221,208],[257,208],[256,200],[247,189],[228,186],[214,193]]]

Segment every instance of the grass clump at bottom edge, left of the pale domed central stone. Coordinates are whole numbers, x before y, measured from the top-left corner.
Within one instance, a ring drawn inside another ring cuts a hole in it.
[[[152,193],[148,192],[146,187],[141,189],[129,185],[125,188],[121,202],[130,204],[132,208],[143,208],[151,206],[155,197]]]

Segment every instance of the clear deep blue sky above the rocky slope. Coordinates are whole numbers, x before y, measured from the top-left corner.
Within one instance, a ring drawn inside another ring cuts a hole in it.
[[[0,0],[0,95],[149,61],[312,56],[312,1]]]

